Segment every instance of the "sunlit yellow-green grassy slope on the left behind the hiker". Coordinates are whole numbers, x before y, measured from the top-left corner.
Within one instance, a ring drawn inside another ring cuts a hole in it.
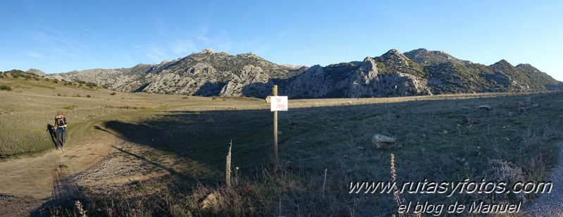
[[[163,102],[151,98],[154,95],[114,92],[86,86],[86,82],[47,79],[23,72],[1,74],[0,86],[10,90],[0,91],[0,159],[52,149],[47,125],[54,123],[57,111],[66,115],[68,136],[72,136],[79,124],[137,110],[163,109],[182,101],[179,96],[159,97],[166,99]]]

